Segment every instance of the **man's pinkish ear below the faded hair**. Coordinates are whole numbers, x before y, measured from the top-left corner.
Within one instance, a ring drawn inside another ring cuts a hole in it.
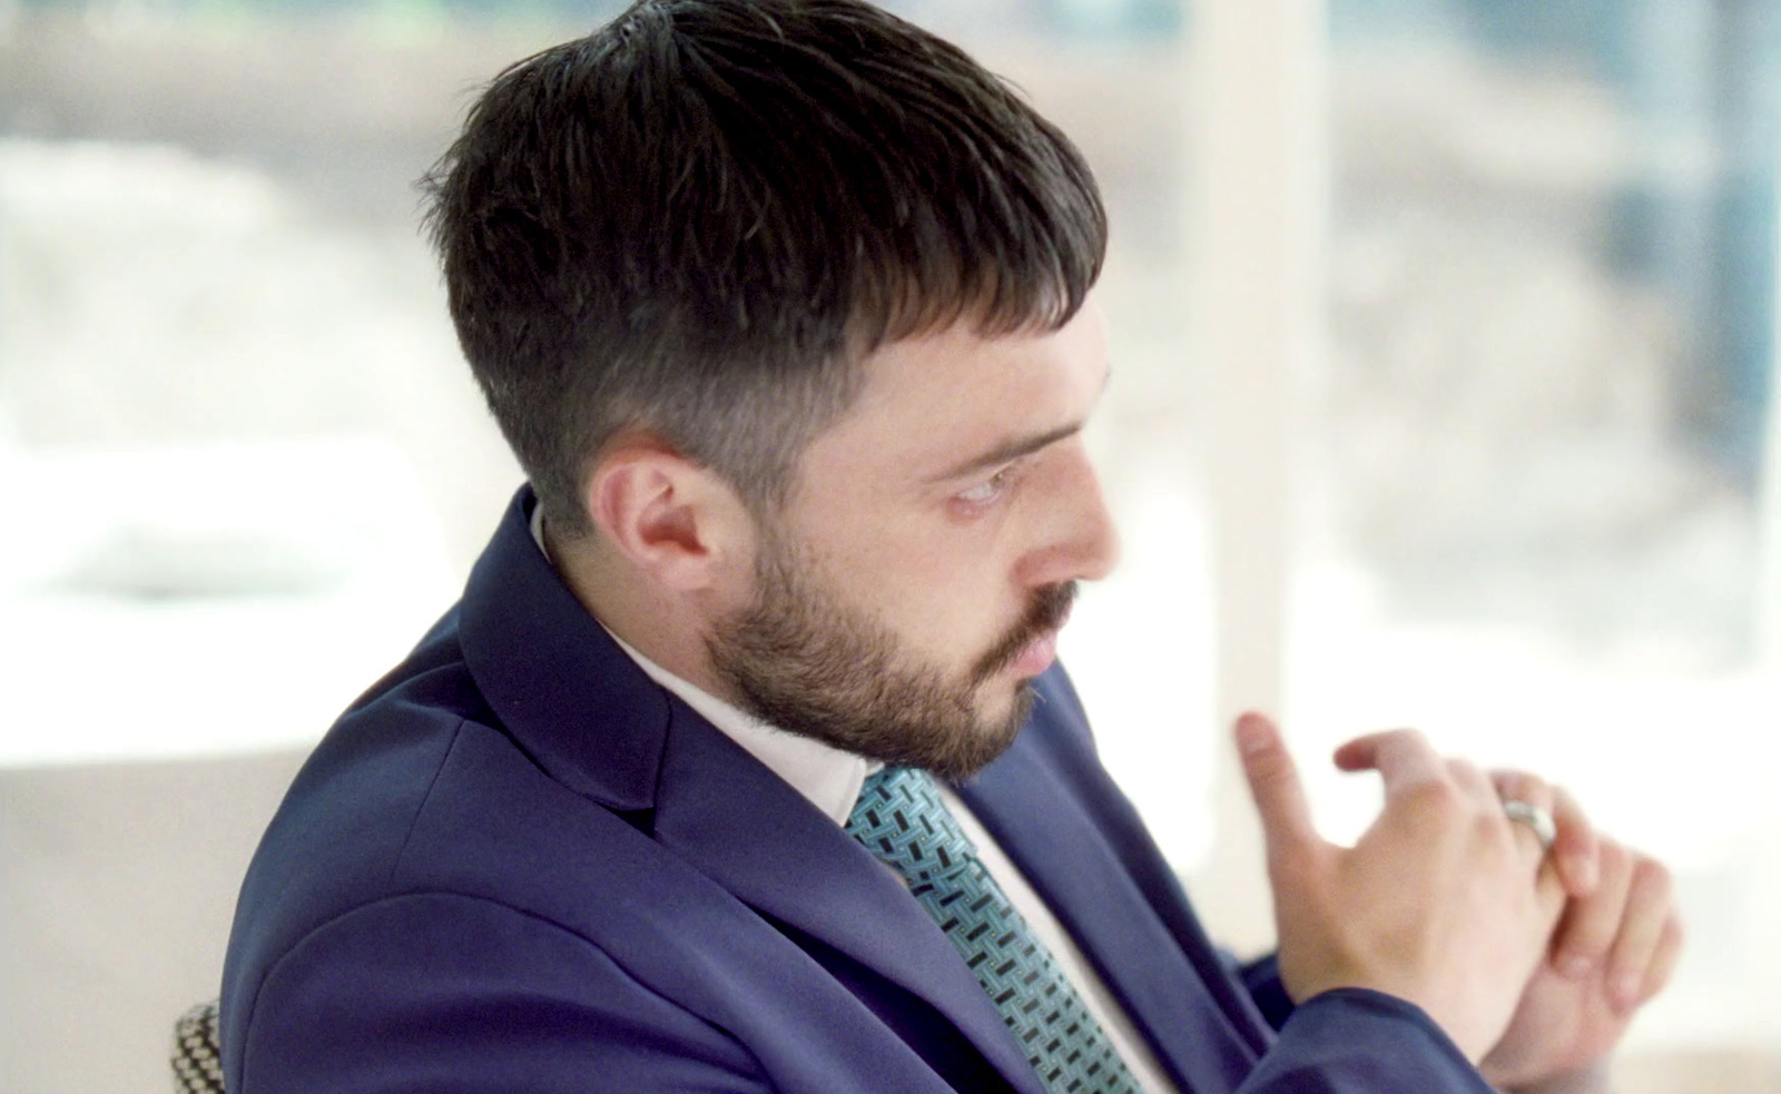
[[[727,588],[750,558],[753,520],[736,490],[655,438],[607,449],[586,502],[607,542],[666,590]]]

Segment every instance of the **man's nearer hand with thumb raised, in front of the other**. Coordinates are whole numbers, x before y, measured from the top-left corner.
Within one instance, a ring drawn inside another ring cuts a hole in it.
[[[1501,1041],[1564,905],[1544,848],[1517,834],[1482,772],[1443,761],[1412,731],[1338,750],[1338,766],[1380,773],[1386,805],[1354,848],[1336,846],[1313,829],[1273,723],[1245,714],[1236,734],[1268,845],[1288,994],[1395,994],[1482,1058]]]

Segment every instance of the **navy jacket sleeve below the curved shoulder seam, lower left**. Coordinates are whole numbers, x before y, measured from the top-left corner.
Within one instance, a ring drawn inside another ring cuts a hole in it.
[[[224,1046],[232,1094],[769,1089],[736,1039],[586,939],[468,896],[395,896],[333,919],[246,1005],[242,1044]]]

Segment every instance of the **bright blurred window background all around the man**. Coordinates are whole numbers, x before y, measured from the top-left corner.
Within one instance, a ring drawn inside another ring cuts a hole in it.
[[[0,0],[0,1089],[167,1089],[303,750],[452,600],[520,476],[413,180],[616,7]],[[1781,4],[890,7],[1106,191],[1065,657],[1215,934],[1272,932],[1231,714],[1345,839],[1325,755],[1418,725],[1676,869],[1622,1090],[1781,1090]]]

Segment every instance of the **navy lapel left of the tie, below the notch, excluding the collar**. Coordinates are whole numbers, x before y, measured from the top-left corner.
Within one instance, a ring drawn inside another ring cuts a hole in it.
[[[673,706],[655,837],[750,907],[926,1000],[1013,1089],[1044,1094],[996,1007],[901,878],[703,718]]]

